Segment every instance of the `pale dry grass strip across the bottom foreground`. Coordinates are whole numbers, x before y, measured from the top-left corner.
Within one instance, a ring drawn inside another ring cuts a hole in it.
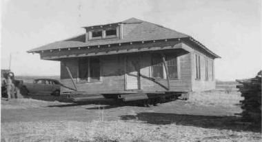
[[[261,141],[256,132],[125,121],[2,123],[3,141]]]

